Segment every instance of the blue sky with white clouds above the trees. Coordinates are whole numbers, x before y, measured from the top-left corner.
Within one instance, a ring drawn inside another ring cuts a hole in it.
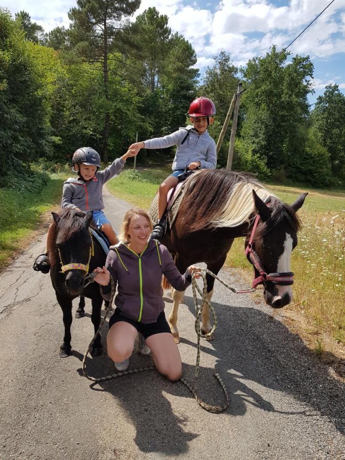
[[[169,17],[172,32],[188,39],[197,53],[201,78],[220,51],[231,54],[242,66],[254,56],[264,56],[272,44],[286,47],[331,2],[331,0],[142,0],[137,14],[155,7]],[[68,27],[68,10],[76,0],[0,0],[14,17],[27,11],[46,32]],[[314,103],[325,86],[337,83],[345,94],[345,0],[332,5],[289,48],[309,55],[314,64]]]

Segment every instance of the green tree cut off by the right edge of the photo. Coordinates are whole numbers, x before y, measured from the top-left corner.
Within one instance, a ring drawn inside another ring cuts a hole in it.
[[[330,154],[332,173],[345,179],[345,96],[337,84],[329,84],[311,114],[318,141]]]

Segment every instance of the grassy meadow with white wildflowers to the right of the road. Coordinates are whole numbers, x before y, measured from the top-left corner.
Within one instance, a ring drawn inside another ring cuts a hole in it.
[[[108,182],[108,188],[115,196],[148,209],[160,182],[170,171],[168,168],[143,170],[132,180],[132,172],[127,170]],[[286,309],[297,310],[306,318],[308,332],[316,337],[315,350],[320,348],[324,333],[345,343],[345,194],[269,184],[266,187],[289,204],[300,193],[309,193],[298,212],[303,228],[291,262],[295,273],[294,301]],[[226,265],[243,269],[249,283],[252,268],[244,256],[244,238],[235,240]]]

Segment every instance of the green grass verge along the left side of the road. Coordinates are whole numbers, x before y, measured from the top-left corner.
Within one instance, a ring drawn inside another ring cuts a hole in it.
[[[0,268],[3,268],[40,222],[42,213],[61,199],[66,173],[52,174],[40,193],[0,189]]]

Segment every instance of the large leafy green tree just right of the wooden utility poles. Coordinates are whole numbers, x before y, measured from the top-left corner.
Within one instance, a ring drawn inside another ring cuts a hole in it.
[[[270,170],[284,168],[292,177],[291,165],[303,156],[306,144],[313,64],[308,56],[296,55],[287,62],[288,56],[273,46],[242,70],[247,85],[241,136]]]

